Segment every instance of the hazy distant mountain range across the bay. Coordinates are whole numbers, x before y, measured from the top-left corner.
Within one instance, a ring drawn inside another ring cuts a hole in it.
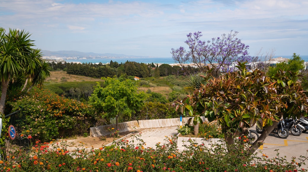
[[[80,52],[80,51],[41,51],[43,56],[56,56],[56,57],[79,57],[79,58],[93,58],[93,57],[150,57],[150,56],[136,56],[125,54],[112,54],[112,53],[93,53],[93,52]]]

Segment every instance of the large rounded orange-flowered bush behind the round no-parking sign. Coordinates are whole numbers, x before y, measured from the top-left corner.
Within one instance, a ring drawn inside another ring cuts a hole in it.
[[[19,106],[23,107],[22,113],[26,114],[26,120],[19,124],[24,127],[22,133],[30,134],[41,141],[70,134],[83,134],[94,121],[89,105],[37,87],[8,104],[13,107],[12,112]],[[29,132],[26,132],[27,130]]]

